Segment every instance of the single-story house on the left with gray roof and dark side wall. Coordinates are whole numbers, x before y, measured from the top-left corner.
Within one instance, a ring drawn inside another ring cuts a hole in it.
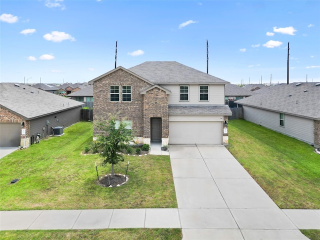
[[[27,147],[81,117],[83,103],[17,83],[0,83],[0,146]]]

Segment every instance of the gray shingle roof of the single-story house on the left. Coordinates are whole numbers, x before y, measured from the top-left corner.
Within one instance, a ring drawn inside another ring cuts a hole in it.
[[[0,106],[20,115],[26,120],[63,111],[82,105],[71,100],[32,86],[14,83],[0,83]],[[34,93],[32,93],[34,92]]]

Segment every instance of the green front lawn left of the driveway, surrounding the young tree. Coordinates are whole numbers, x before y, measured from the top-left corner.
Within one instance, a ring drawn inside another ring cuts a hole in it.
[[[81,151],[92,140],[92,123],[78,122],[64,135],[17,150],[0,159],[0,210],[177,207],[169,156],[125,156],[114,166],[129,180],[119,187],[96,184],[108,174],[99,154]],[[12,179],[20,180],[10,184]]]

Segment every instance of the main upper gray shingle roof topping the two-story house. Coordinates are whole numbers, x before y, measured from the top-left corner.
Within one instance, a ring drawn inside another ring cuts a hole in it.
[[[209,75],[176,61],[146,61],[128,68],[135,74],[156,84],[211,83],[225,84],[228,81]]]

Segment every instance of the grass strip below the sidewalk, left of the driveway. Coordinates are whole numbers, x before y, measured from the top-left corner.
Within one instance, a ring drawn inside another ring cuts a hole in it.
[[[122,228],[98,230],[17,230],[0,231],[0,239],[181,239],[181,229],[177,228]]]

